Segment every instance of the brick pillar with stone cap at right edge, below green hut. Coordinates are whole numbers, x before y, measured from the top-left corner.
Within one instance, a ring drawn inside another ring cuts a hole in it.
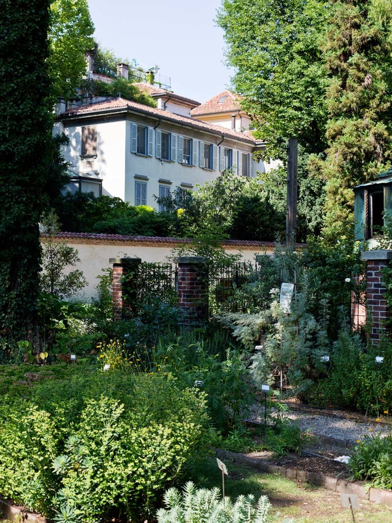
[[[385,326],[390,317],[385,301],[385,286],[381,269],[389,266],[392,251],[365,251],[361,258],[366,260],[366,306],[367,318],[372,323],[370,338],[373,345],[378,344],[381,335],[390,335],[391,329]]]

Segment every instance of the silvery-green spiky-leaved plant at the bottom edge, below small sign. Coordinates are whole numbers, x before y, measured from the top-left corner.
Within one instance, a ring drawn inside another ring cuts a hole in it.
[[[182,494],[177,488],[165,492],[164,503],[167,508],[158,510],[158,523],[266,523],[271,508],[267,496],[261,496],[256,505],[252,494],[238,496],[233,504],[229,497],[221,499],[218,488],[198,489],[191,481]]]

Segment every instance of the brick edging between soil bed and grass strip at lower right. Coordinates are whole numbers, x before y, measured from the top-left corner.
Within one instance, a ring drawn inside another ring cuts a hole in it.
[[[333,492],[355,494],[360,499],[366,499],[380,505],[387,505],[388,507],[392,507],[392,491],[381,490],[374,487],[371,487],[368,491],[366,491],[365,487],[361,483],[353,483],[352,481],[326,476],[324,474],[318,474],[317,472],[307,472],[306,470],[301,469],[280,467],[278,465],[268,463],[267,461],[263,461],[259,458],[250,458],[244,454],[238,454],[228,450],[216,449],[215,452],[218,458],[232,459],[235,463],[247,465],[248,467],[256,469],[260,472],[266,472],[268,474],[280,474],[290,480],[303,482],[306,481],[312,485],[324,487]]]

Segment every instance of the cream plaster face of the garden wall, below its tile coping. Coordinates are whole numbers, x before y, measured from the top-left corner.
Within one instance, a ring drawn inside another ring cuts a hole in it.
[[[67,241],[67,245],[74,247],[78,251],[80,263],[69,270],[79,269],[83,271],[87,279],[87,286],[77,295],[77,298],[88,299],[95,297],[97,292],[95,287],[98,285],[99,276],[103,268],[111,267],[109,258],[116,258],[117,256],[139,256],[142,261],[148,262],[166,262],[172,253],[172,247],[169,246],[133,246],[133,245],[100,245],[100,244],[86,244],[78,243],[75,240]],[[259,251],[240,251],[239,249],[226,249],[229,254],[241,254],[243,261],[255,261],[256,254],[263,254],[262,249]],[[271,254],[271,253],[268,253]]]

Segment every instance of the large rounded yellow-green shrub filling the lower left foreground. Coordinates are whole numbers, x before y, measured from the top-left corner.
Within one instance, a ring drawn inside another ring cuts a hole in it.
[[[74,367],[23,390],[0,405],[0,491],[59,523],[145,516],[210,441],[204,394],[169,376]]]

